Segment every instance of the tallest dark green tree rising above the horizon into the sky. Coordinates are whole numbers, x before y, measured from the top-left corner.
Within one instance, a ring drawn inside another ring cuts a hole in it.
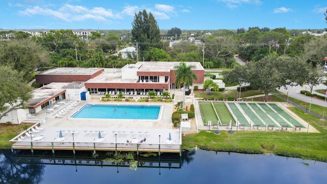
[[[132,40],[139,43],[139,51],[147,50],[149,44],[155,47],[160,39],[160,30],[152,13],[148,14],[146,10],[135,13],[132,22]]]

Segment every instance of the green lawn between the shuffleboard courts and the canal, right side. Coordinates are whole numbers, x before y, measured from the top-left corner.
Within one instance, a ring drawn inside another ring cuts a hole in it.
[[[299,105],[303,102],[289,98]],[[183,149],[197,146],[200,149],[239,153],[273,153],[275,155],[314,159],[327,162],[327,123],[304,111],[289,107],[301,119],[310,123],[320,133],[278,132],[278,131],[235,131],[230,134],[221,130],[219,135],[214,131],[200,131],[197,134],[182,137]],[[312,111],[321,112],[323,107],[311,106]]]

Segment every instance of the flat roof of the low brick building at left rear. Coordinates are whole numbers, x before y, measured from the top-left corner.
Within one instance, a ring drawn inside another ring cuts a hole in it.
[[[81,67],[56,67],[36,75],[91,75],[99,70],[100,67],[81,68]]]

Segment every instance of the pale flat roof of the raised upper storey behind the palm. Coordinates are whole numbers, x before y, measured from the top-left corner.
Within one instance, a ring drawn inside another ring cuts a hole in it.
[[[139,61],[135,65],[142,65],[138,68],[138,72],[170,72],[175,70],[180,62],[176,61]],[[194,65],[193,70],[204,70],[200,62],[184,62],[186,66]]]

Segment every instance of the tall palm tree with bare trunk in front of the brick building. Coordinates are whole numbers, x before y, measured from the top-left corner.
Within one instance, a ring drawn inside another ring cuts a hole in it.
[[[183,83],[183,105],[185,108],[185,88],[193,85],[193,80],[198,80],[197,75],[192,71],[195,65],[186,66],[186,63],[180,62],[178,66],[175,66],[175,84],[180,87],[180,83]]]

